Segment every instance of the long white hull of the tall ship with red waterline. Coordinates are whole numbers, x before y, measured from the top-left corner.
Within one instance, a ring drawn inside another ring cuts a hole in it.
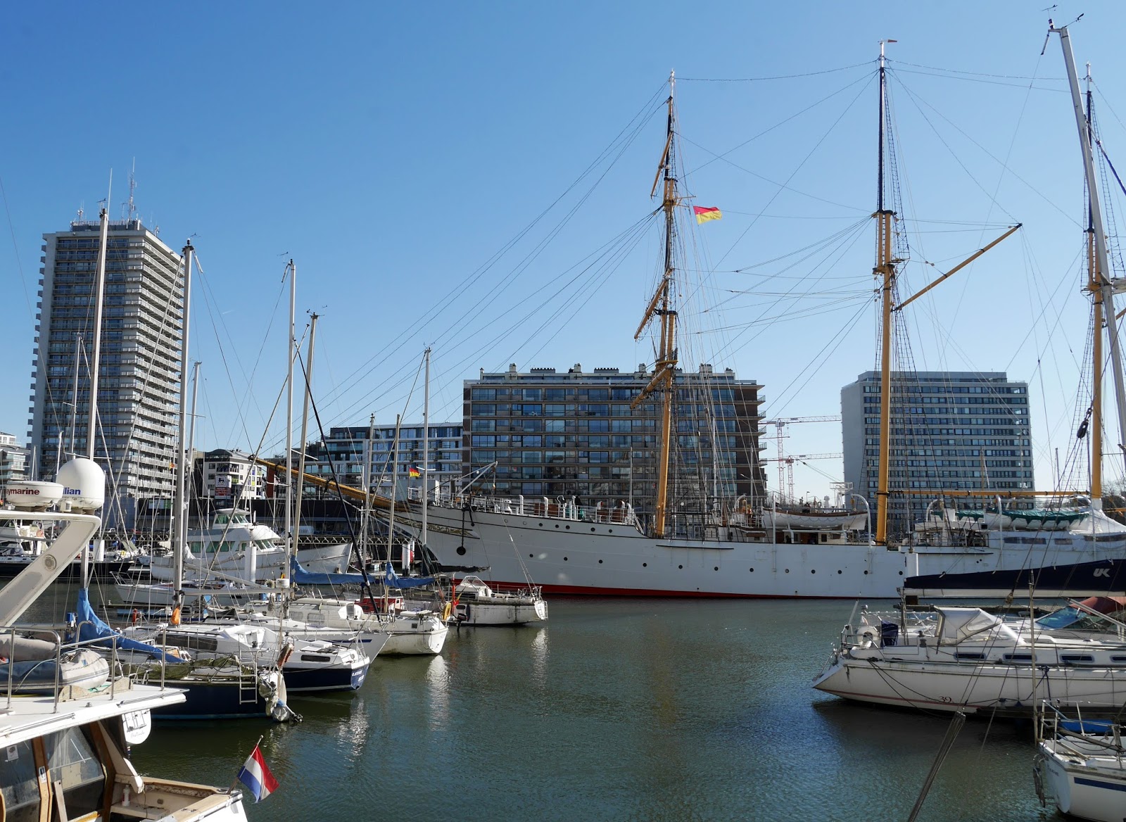
[[[593,520],[547,516],[554,512],[500,500],[430,504],[427,547],[444,566],[486,568],[481,575],[490,582],[530,582],[545,593],[825,599],[897,598],[909,578],[1008,580],[1027,571],[1030,559],[1037,568],[1097,568],[1126,556],[1126,533],[1053,531],[1038,534],[1042,542],[1030,546],[1008,542],[1017,538],[1011,531],[992,531],[982,535],[982,546],[887,548],[855,542],[843,530],[734,525],[709,529],[713,538],[652,538],[628,520],[615,521],[617,511]],[[418,503],[395,519],[420,529]],[[1070,588],[1060,584],[1069,596],[1108,590],[1102,574],[1073,574]]]

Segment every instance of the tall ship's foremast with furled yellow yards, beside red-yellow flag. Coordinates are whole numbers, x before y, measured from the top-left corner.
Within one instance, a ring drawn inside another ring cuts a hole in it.
[[[677,373],[677,312],[672,307],[672,274],[676,270],[672,263],[673,239],[676,221],[673,220],[673,208],[677,207],[677,178],[673,176],[672,163],[674,155],[673,128],[676,117],[673,110],[673,95],[676,91],[676,72],[669,73],[669,119],[664,141],[664,152],[661,154],[661,162],[656,169],[656,177],[653,180],[653,189],[650,196],[656,193],[656,187],[664,179],[664,193],[661,207],[664,209],[664,274],[661,283],[656,287],[656,293],[645,309],[641,324],[637,327],[636,340],[649,325],[654,314],[661,318],[661,337],[658,342],[656,361],[654,364],[653,378],[649,385],[629,404],[631,409],[637,408],[654,392],[661,392],[661,455],[656,464],[656,499],[653,507],[653,536],[664,536],[664,518],[668,508],[669,497],[669,454],[670,437],[672,435],[672,401],[673,377]]]

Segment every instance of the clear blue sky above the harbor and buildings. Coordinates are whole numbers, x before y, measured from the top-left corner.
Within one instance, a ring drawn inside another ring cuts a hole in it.
[[[1111,160],[1126,158],[1126,10],[1047,5],[14,7],[0,35],[0,342],[15,387],[0,430],[26,434],[39,235],[80,206],[95,216],[110,170],[119,217],[134,162],[140,215],[176,249],[193,235],[204,270],[203,447],[282,439],[267,418],[291,257],[298,311],[322,318],[325,426],[419,418],[421,390],[408,392],[427,345],[435,419],[459,419],[462,381],[480,368],[652,361],[633,332],[656,239],[613,265],[598,252],[656,205],[670,69],[686,188],[724,209],[686,240],[681,363],[763,383],[768,417],[839,413],[840,387],[875,364],[860,221],[875,207],[877,43],[895,38],[904,213],[926,221],[905,285],[1025,225],[910,311],[913,360],[1027,379],[1049,486],[1084,348],[1083,188],[1058,39],[1040,50],[1049,16],[1085,12],[1076,59],[1093,64]],[[607,146],[620,155],[599,162]],[[840,450],[832,423],[792,435],[790,453]],[[814,464],[824,473],[798,467],[798,493],[839,477],[839,462]]]

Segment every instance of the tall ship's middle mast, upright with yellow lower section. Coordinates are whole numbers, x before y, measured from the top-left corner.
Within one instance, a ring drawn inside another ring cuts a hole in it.
[[[887,124],[884,113],[887,102],[887,77],[884,59],[885,43],[879,43],[879,158],[878,189],[876,193],[876,267],[873,274],[883,279],[881,286],[881,305],[883,320],[881,322],[879,345],[879,479],[876,490],[876,544],[887,544],[887,508],[888,484],[892,464],[892,295],[895,285],[895,265],[892,259],[892,221],[895,212],[884,205],[884,142]]]

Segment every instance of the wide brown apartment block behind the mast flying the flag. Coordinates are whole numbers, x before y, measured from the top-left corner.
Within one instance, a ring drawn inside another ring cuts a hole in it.
[[[653,512],[660,456],[656,395],[629,405],[652,374],[575,365],[566,373],[533,368],[465,382],[464,458],[481,471],[476,488],[498,495],[577,498],[596,507],[629,502]],[[669,512],[698,513],[717,499],[761,499],[754,381],[730,368],[677,372]],[[492,467],[489,467],[492,466]]]

